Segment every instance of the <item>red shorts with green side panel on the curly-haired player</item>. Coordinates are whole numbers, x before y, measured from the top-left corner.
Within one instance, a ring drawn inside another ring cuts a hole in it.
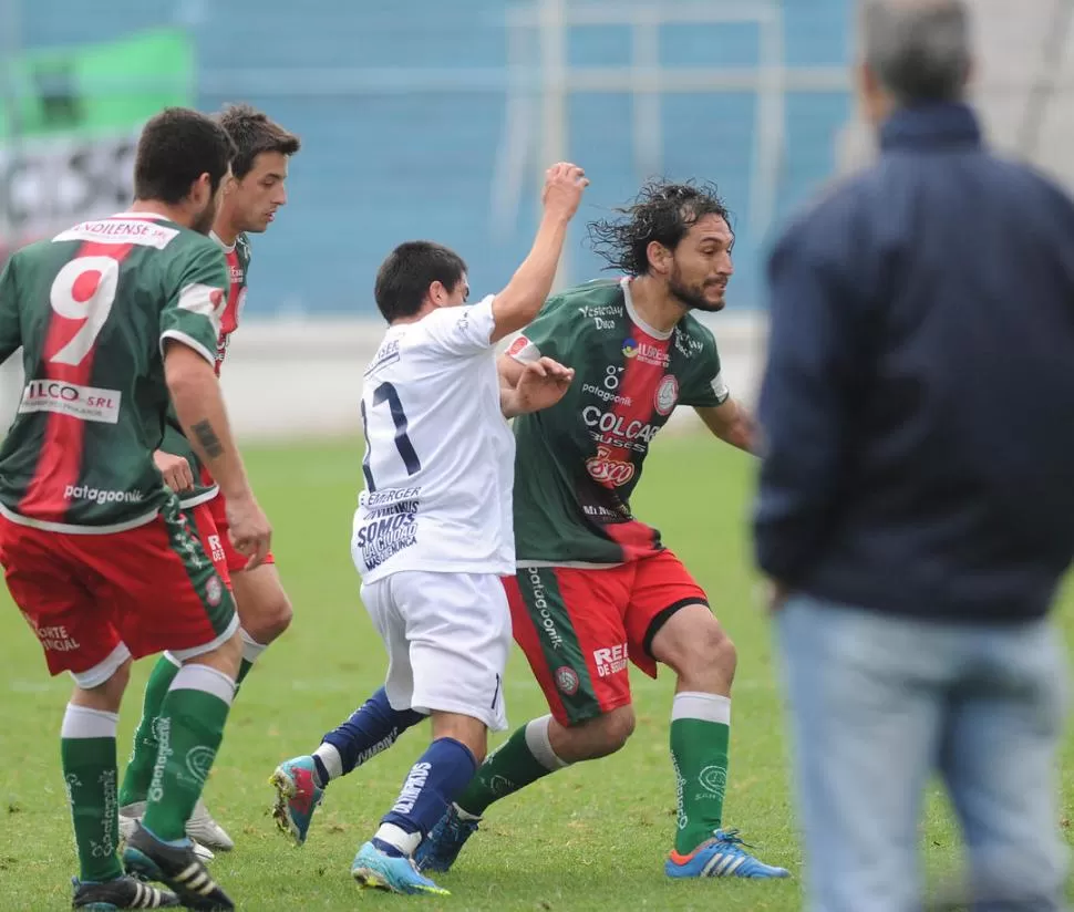
[[[660,628],[680,608],[709,604],[668,550],[599,569],[519,567],[504,585],[515,642],[564,725],[628,705],[628,660],[655,677]]]

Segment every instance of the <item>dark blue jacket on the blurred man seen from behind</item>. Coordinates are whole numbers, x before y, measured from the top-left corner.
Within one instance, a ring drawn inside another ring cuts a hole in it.
[[[894,614],[1044,614],[1074,555],[1071,199],[968,107],[903,110],[768,282],[765,573]]]

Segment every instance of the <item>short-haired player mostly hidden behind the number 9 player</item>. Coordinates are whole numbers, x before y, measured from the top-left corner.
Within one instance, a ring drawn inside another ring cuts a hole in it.
[[[288,163],[300,147],[297,136],[249,105],[230,105],[217,117],[235,143],[231,178],[213,222],[211,237],[224,248],[228,268],[227,299],[220,330],[214,345],[217,374],[224,366],[231,333],[238,328],[246,302],[250,266],[250,234],[260,234],[287,203]],[[271,553],[256,568],[247,567],[228,537],[227,498],[207,467],[198,459],[192,442],[172,412],[156,463],[165,480],[179,494],[179,502],[202,533],[221,577],[229,581],[238,607],[242,636],[241,684],[257,657],[291,622],[291,603],[280,583]],[[142,721],[134,736],[134,749],[120,789],[120,817],[124,832],[133,830],[145,810],[157,750],[156,719],[178,663],[171,653],[157,661],[149,675]],[[231,837],[198,801],[187,823],[187,833],[210,850],[234,848]],[[211,853],[206,853],[209,857]]]

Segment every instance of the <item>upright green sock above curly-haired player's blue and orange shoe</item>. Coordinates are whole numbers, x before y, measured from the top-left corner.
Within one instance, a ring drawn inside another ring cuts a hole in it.
[[[680,854],[690,854],[720,829],[730,742],[731,697],[693,692],[675,694],[671,709],[671,761],[678,784],[675,851]]]

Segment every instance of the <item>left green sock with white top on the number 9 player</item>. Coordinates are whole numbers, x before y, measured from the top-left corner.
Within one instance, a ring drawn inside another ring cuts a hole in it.
[[[79,849],[79,877],[103,882],[123,874],[115,853],[120,820],[115,797],[115,729],[120,716],[68,704],[60,734],[63,779]]]

